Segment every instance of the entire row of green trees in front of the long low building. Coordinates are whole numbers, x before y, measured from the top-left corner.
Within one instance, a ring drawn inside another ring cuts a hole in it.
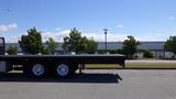
[[[26,31],[26,35],[22,35],[19,40],[19,45],[24,54],[54,54],[57,48],[57,43],[54,38],[50,37],[48,41],[43,45],[41,31],[37,31],[35,28],[32,28]],[[76,54],[88,53],[94,54],[97,52],[97,42],[94,38],[87,38],[81,35],[76,28],[72,29],[68,36],[64,37],[64,43],[62,48],[64,52],[75,52]],[[127,55],[128,58],[132,58],[134,53],[136,53],[138,46],[141,43],[134,38],[134,36],[129,35],[123,42],[122,50],[118,52]],[[10,46],[7,51],[8,54],[16,54],[16,46]],[[164,50],[173,52],[176,54],[176,36],[170,36],[164,44]],[[146,56],[150,56],[150,53],[145,51]]]

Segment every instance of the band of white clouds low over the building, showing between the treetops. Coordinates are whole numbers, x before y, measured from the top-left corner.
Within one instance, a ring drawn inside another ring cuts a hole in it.
[[[69,32],[70,32],[70,29],[47,31],[42,33],[42,38],[43,38],[43,42],[46,42],[48,37],[53,37],[56,42],[63,42],[63,38],[69,35]],[[97,42],[105,42],[105,34],[102,32],[97,31],[97,32],[81,32],[81,33],[82,33],[82,36],[87,36],[88,38],[94,38]],[[127,38],[128,35],[130,34],[122,34],[122,33],[114,34],[114,33],[108,32],[107,41],[122,42]],[[133,35],[133,36],[138,41],[164,41],[166,40],[165,37],[167,37],[163,33],[156,33],[156,34],[145,33],[144,35]],[[4,36],[4,37],[6,37],[6,42],[18,43],[21,35]]]

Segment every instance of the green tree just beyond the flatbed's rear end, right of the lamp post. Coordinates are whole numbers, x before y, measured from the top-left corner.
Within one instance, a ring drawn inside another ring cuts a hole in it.
[[[128,58],[132,58],[133,54],[136,53],[138,45],[140,45],[140,42],[132,35],[129,35],[128,40],[124,40],[122,51]]]

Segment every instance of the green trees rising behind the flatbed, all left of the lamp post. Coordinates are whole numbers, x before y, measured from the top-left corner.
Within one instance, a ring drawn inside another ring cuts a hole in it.
[[[19,45],[24,54],[54,54],[57,48],[57,43],[54,38],[50,37],[44,44],[42,43],[41,31],[32,28],[26,31],[26,35],[22,35],[19,40]],[[62,48],[64,52],[76,52],[94,54],[97,50],[97,42],[94,38],[87,38],[76,29],[72,29],[68,36],[64,37]],[[9,55],[16,55],[18,47],[9,46],[7,51]]]

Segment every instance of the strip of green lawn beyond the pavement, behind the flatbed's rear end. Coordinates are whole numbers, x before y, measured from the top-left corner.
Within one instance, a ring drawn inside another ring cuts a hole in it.
[[[109,65],[109,64],[100,64],[100,65],[87,65],[87,68],[122,68],[119,65]],[[176,63],[127,63],[125,68],[176,68]]]

